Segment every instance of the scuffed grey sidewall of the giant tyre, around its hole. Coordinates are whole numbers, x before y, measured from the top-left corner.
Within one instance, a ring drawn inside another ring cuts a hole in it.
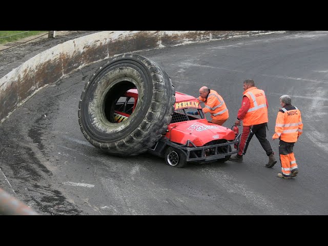
[[[122,63],[117,65],[107,65],[106,68],[99,73],[96,78],[89,84],[86,95],[82,101],[84,109],[85,130],[93,136],[95,141],[99,142],[116,142],[131,134],[135,130],[135,126],[141,124],[145,118],[151,103],[152,87],[143,81],[150,78],[147,69],[141,70],[134,64],[126,64],[125,69],[121,69]],[[139,72],[139,73],[138,73]],[[113,74],[117,74],[114,75]],[[111,77],[110,79],[108,79]],[[131,78],[132,77],[132,78]],[[129,80],[138,90],[138,102],[133,114],[125,121],[116,123],[108,121],[103,111],[103,101],[108,91],[122,80]]]

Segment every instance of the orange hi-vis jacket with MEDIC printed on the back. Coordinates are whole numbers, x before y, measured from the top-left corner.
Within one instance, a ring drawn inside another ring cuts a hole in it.
[[[280,109],[276,119],[274,139],[280,137],[285,142],[296,142],[303,133],[301,112],[298,108],[287,105]]]

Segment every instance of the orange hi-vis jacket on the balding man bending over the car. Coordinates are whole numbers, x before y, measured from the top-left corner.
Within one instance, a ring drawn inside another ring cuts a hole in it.
[[[205,104],[205,107],[202,109],[204,114],[210,112],[213,119],[229,118],[226,103],[224,103],[223,98],[216,91],[210,90],[210,93],[205,100],[201,96],[197,99],[200,103]]]

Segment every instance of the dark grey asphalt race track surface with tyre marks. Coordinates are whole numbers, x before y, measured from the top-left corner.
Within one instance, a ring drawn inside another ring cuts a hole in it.
[[[328,215],[328,32],[288,32],[139,52],[171,76],[176,91],[201,86],[222,95],[231,127],[242,82],[254,79],[269,101],[273,141],[279,96],[302,113],[294,147],[296,178],[277,177],[254,136],[242,163],[173,168],[149,154],[114,157],[81,133],[78,102],[102,63],[44,88],[0,126],[1,187],[45,215]],[[105,61],[106,62],[106,61]],[[278,155],[276,155],[278,157]]]

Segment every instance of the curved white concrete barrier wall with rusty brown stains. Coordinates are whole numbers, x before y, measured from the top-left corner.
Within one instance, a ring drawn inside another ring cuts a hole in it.
[[[43,87],[86,65],[127,53],[269,34],[270,31],[103,31],[37,54],[0,79],[0,124]]]

